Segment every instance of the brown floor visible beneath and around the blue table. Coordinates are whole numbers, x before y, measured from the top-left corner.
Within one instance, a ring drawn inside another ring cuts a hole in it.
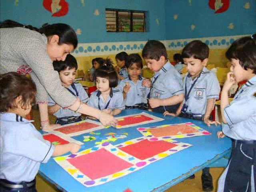
[[[34,126],[39,129],[40,122],[39,122],[39,113],[38,110],[32,110],[33,119],[35,120]],[[55,117],[50,116],[50,122],[55,122]],[[143,170],[142,170],[143,171]],[[217,190],[218,178],[224,171],[224,168],[210,168],[210,173],[212,174],[214,190]],[[202,171],[196,173],[196,178],[192,180],[184,180],[179,184],[173,186],[172,188],[166,190],[166,192],[203,192],[202,190],[202,181],[201,181]],[[38,192],[59,192],[52,184],[49,184],[44,178],[41,176],[36,177],[36,188]]]

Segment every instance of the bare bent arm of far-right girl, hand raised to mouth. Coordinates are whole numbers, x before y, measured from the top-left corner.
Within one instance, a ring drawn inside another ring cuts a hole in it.
[[[224,83],[224,86],[222,88],[221,92],[221,100],[220,100],[220,111],[221,111],[221,117],[222,121],[227,124],[228,122],[226,121],[226,118],[224,116],[224,109],[226,106],[229,105],[229,100],[228,100],[228,90],[231,88],[231,86],[236,82],[234,77],[232,76],[232,72],[228,72],[227,74],[227,80]]]

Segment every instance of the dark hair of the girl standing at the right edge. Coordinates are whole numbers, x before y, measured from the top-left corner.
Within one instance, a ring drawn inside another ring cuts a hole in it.
[[[244,70],[252,69],[256,74],[256,34],[235,40],[226,52],[226,58],[238,59]]]

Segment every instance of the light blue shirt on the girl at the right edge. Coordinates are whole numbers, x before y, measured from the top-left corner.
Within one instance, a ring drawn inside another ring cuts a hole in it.
[[[228,124],[222,124],[223,133],[235,140],[256,140],[256,76],[237,92],[224,109]]]

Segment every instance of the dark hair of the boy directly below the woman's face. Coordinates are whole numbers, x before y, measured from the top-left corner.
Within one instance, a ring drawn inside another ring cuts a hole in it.
[[[66,59],[64,61],[54,61],[53,63],[53,68],[55,71],[60,71],[66,70],[66,69],[72,69],[72,68],[78,68],[76,58],[72,56],[71,54],[68,54],[66,56]]]

